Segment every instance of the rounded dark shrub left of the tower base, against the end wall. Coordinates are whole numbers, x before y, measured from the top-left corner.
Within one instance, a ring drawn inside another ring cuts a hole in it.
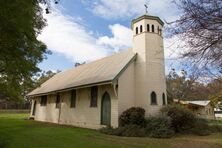
[[[140,107],[131,107],[120,115],[119,121],[120,126],[133,124],[144,127],[146,124],[145,110]]]

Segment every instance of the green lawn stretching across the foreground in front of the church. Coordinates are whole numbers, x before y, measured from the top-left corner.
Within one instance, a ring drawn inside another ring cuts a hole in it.
[[[203,137],[177,135],[171,139],[126,138],[104,135],[95,130],[25,120],[27,116],[25,113],[0,113],[0,147],[222,147],[222,133]]]

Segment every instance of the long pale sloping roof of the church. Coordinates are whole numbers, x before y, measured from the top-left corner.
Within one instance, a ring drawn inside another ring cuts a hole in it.
[[[60,72],[27,96],[53,93],[98,83],[111,83],[135,57],[136,54],[128,50]]]

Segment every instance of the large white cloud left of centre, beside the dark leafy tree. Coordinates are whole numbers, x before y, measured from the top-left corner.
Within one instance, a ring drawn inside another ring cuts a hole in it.
[[[81,24],[81,18],[65,16],[58,10],[44,14],[44,18],[48,26],[38,39],[53,52],[61,53],[73,62],[95,60],[111,52],[96,43],[97,39]]]

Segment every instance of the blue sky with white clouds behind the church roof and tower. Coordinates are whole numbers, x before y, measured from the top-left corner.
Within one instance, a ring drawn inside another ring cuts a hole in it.
[[[48,25],[38,37],[52,51],[40,69],[65,70],[132,46],[131,20],[145,13],[147,0],[60,0],[44,14]],[[179,17],[170,0],[150,0],[149,14],[166,21]],[[177,39],[164,39],[166,59],[174,59]],[[172,60],[166,61],[168,70]]]

